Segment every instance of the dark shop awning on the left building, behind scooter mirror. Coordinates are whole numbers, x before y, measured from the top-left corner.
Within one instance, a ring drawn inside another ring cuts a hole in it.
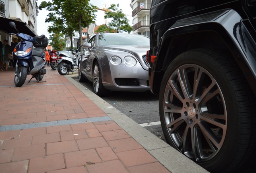
[[[11,20],[8,18],[0,17],[0,30],[7,32],[7,33],[17,33],[17,31],[10,27],[9,22],[14,22],[16,24],[16,28],[19,32],[28,34],[30,36],[37,36],[33,30],[27,25],[26,22],[19,22],[16,20]]]

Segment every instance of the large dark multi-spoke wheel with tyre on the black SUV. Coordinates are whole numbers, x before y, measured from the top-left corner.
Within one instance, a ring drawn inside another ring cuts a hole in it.
[[[237,69],[229,56],[190,50],[173,60],[161,83],[167,143],[210,172],[238,169],[255,152],[252,93]]]

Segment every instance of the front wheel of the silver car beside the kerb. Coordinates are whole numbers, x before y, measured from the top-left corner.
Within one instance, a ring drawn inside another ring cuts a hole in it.
[[[99,97],[109,95],[109,90],[105,89],[101,80],[101,71],[99,69],[99,63],[96,61],[93,66],[93,90]]]

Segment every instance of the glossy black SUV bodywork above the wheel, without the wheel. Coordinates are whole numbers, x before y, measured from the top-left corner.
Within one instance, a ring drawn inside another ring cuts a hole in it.
[[[231,52],[256,94],[255,6],[254,0],[153,0],[149,57],[155,55],[156,60],[149,68],[151,91],[159,93],[163,74],[175,56],[191,48],[207,48]],[[196,36],[202,38],[201,43],[190,42]],[[164,57],[166,51],[173,56]]]

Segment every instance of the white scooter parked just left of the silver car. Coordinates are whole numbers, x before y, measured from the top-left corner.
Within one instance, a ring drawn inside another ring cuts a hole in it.
[[[73,72],[78,69],[78,57],[80,52],[78,52],[79,48],[74,50],[70,49],[69,51],[74,51],[72,54],[68,54],[65,52],[61,52],[59,54],[59,62],[58,62],[58,72],[61,75],[66,75],[68,72]]]

